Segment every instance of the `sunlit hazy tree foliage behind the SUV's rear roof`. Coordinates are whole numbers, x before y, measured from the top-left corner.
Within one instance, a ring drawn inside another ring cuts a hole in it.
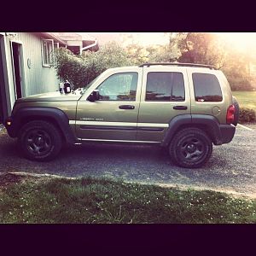
[[[253,89],[248,73],[248,61],[252,61],[252,57],[233,50],[213,33],[179,34],[183,38],[178,43],[182,53],[178,61],[213,65],[223,70],[232,90]]]

